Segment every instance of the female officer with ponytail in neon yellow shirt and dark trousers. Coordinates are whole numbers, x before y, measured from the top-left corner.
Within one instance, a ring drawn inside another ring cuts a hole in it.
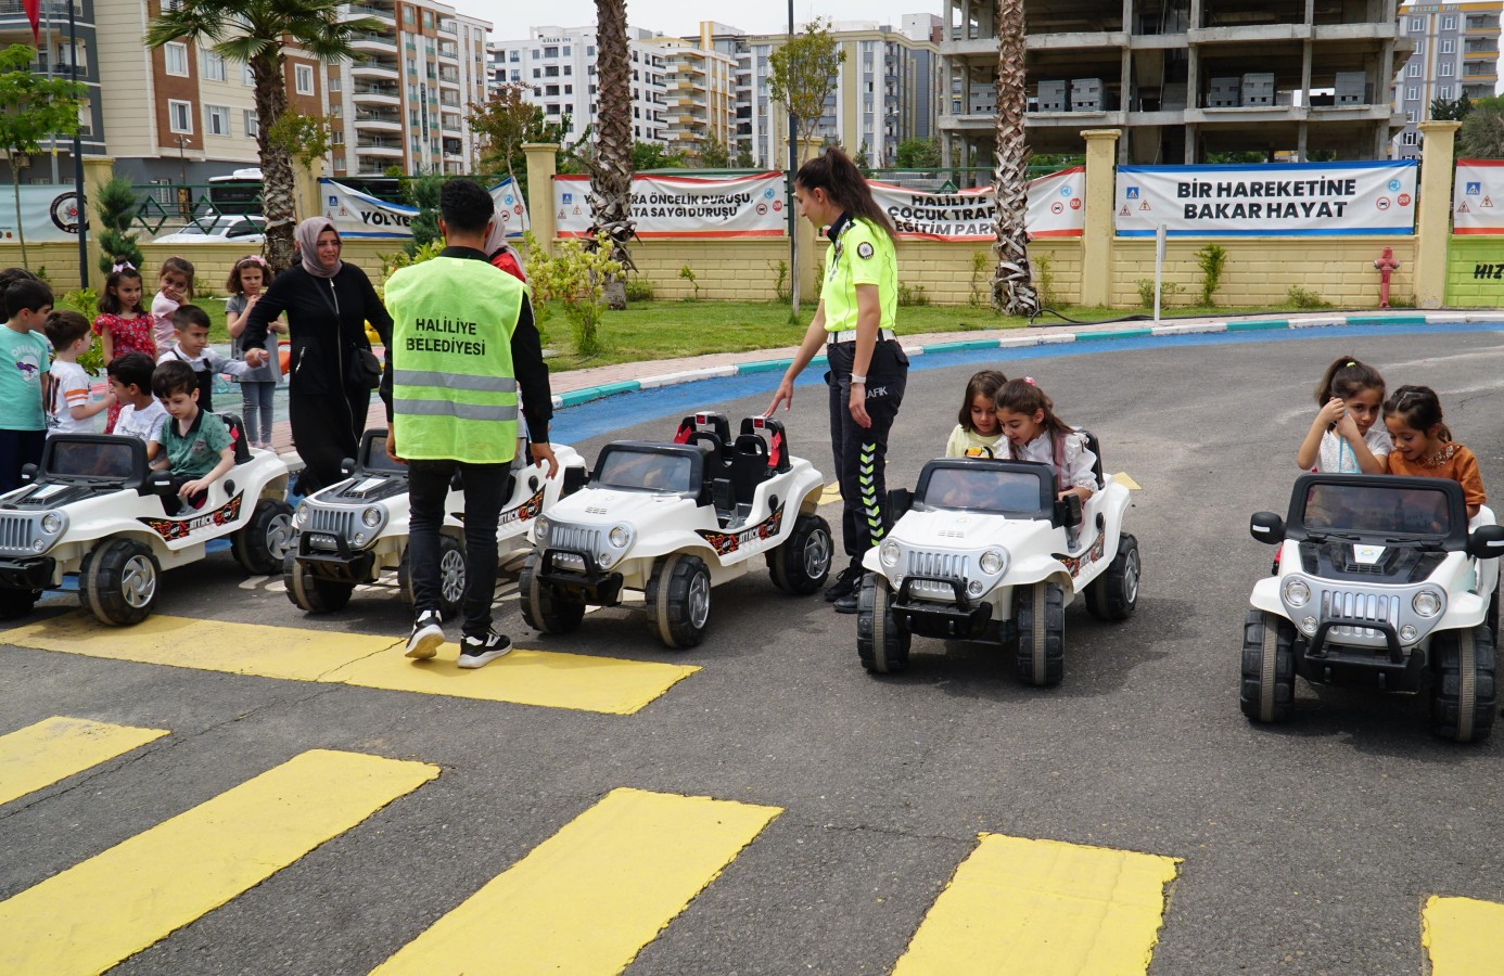
[[[784,373],[767,412],[794,400],[794,379],[826,347],[830,371],[830,447],[841,481],[841,535],[851,565],[826,591],[841,614],[854,614],[862,556],[887,531],[883,469],[887,432],[898,417],[908,356],[893,337],[898,260],[893,224],[862,173],[839,149],[827,149],[794,174],[794,199],[817,229],[829,227],[820,307],[799,355]]]

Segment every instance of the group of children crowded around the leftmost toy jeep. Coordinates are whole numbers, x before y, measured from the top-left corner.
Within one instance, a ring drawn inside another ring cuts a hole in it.
[[[245,328],[266,278],[259,256],[236,262],[227,283],[232,335]],[[99,316],[53,308],[53,289],[23,268],[0,271],[0,493],[20,486],[21,469],[39,463],[56,433],[92,433],[108,411],[105,433],[140,438],[153,468],[168,469],[177,496],[202,504],[208,487],[235,465],[230,429],[212,414],[214,376],[242,382],[251,444],[269,447],[271,391],[277,385],[275,332],[268,349],[226,359],[208,347],[209,316],[193,298],[193,265],[162,263],[161,290],[147,313],[140,272],[119,265],[105,283]],[[274,326],[286,331],[286,326]],[[108,394],[92,400],[78,364],[93,335],[102,343]],[[170,423],[168,423],[170,421]],[[173,505],[170,505],[173,508]]]

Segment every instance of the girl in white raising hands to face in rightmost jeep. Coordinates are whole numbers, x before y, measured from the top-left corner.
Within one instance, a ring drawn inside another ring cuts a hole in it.
[[[1316,383],[1316,420],[1295,453],[1301,471],[1384,474],[1390,432],[1379,424],[1384,377],[1354,356],[1337,356]]]

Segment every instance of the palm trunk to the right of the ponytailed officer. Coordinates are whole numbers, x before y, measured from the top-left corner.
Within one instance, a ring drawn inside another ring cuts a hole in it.
[[[1024,0],[996,0],[997,35],[997,164],[993,194],[997,197],[997,271],[993,274],[993,305],[1011,316],[1039,314],[1039,293],[1029,269],[1029,143],[1024,140]]]

